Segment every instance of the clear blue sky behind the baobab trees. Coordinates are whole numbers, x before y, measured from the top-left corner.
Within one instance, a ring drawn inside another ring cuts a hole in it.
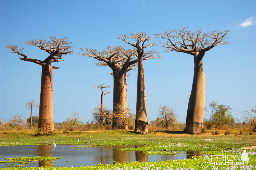
[[[1,1],[0,2],[0,117],[30,116],[25,103],[39,104],[42,68],[10,54],[8,44],[25,48],[29,58],[44,60],[48,53],[24,41],[69,37],[74,54],[53,63],[60,69],[53,73],[54,121],[62,122],[71,111],[80,113],[84,122],[91,121],[92,110],[100,104],[95,85],[110,85],[109,67],[97,67],[97,60],[77,55],[79,48],[104,49],[127,46],[121,34],[147,32],[153,36],[169,28],[188,27],[203,32],[230,29],[229,44],[217,46],[203,58],[205,71],[205,105],[212,100],[230,105],[235,118],[256,106],[255,12],[256,1]],[[246,21],[247,20],[247,21]],[[246,21],[246,22],[245,22]],[[245,23],[244,23],[245,22]],[[242,24],[242,25],[241,25]],[[129,39],[132,41],[132,39]],[[153,39],[156,43],[159,39]],[[144,61],[148,120],[157,117],[161,104],[173,106],[185,122],[193,81],[193,56],[166,52],[154,47],[161,59]],[[137,72],[127,78],[128,105],[136,110]],[[112,107],[113,93],[104,95]],[[39,109],[33,111],[39,115]],[[208,115],[205,113],[205,117]]]

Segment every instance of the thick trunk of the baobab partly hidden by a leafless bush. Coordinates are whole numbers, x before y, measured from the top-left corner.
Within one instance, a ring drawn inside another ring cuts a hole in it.
[[[113,112],[127,112],[127,83],[126,70],[113,71],[114,86],[113,86]],[[118,107],[117,107],[118,106]],[[121,107],[120,107],[121,106]],[[127,113],[123,113],[127,114]],[[113,118],[112,128],[119,128],[117,118]],[[127,126],[125,126],[127,128]]]

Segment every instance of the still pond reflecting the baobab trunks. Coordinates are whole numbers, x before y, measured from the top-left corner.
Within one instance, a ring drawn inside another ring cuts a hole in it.
[[[70,167],[70,166],[86,166],[97,164],[114,164],[118,162],[159,162],[164,160],[178,160],[187,159],[190,156],[202,156],[200,151],[176,151],[181,154],[176,155],[147,155],[143,151],[122,151],[121,148],[138,148],[143,145],[129,144],[129,145],[109,145],[101,147],[79,147],[88,145],[27,145],[27,146],[2,146],[0,148],[0,161],[4,158],[14,157],[29,157],[29,156],[51,156],[61,157],[55,159],[53,162],[39,161],[30,162],[24,167]],[[76,147],[76,148],[73,148]],[[69,162],[70,161],[70,162]],[[8,163],[10,165],[10,163]],[[20,165],[14,163],[12,167]],[[0,165],[0,168],[6,168],[5,164]]]

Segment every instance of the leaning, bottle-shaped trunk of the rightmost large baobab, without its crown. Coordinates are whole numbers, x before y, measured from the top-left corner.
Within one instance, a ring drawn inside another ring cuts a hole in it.
[[[186,131],[190,134],[200,134],[203,128],[205,107],[205,74],[203,68],[204,53],[194,55],[194,78],[188,102]]]

